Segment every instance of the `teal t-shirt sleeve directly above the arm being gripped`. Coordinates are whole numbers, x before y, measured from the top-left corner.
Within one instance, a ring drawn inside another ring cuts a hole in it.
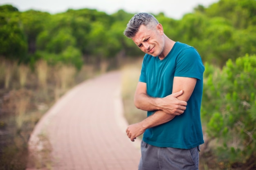
[[[189,47],[184,49],[176,59],[175,77],[191,77],[202,79],[204,65],[198,51]]]

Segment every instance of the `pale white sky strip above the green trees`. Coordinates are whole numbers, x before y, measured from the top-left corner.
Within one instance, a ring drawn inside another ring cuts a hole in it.
[[[11,4],[19,11],[34,9],[49,13],[65,12],[67,9],[97,9],[108,14],[123,9],[128,13],[163,12],[167,17],[181,19],[198,4],[208,7],[218,0],[0,0],[0,5]]]

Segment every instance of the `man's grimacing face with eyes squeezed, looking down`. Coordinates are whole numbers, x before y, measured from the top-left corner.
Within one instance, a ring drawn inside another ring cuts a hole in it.
[[[141,49],[141,51],[157,57],[162,54],[164,49],[163,34],[161,24],[158,24],[153,29],[148,29],[146,26],[141,25],[139,27],[139,31],[132,40]]]

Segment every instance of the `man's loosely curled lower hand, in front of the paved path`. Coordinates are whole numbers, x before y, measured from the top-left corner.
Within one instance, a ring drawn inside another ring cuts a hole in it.
[[[144,128],[141,122],[137,124],[131,124],[126,129],[126,134],[130,138],[131,141],[134,141],[136,137],[142,135],[145,132],[146,128]]]

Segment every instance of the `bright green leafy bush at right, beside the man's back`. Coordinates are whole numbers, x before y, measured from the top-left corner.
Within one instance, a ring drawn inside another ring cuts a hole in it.
[[[213,68],[206,64],[202,120],[210,140],[218,140],[218,157],[245,163],[256,156],[256,55]]]

